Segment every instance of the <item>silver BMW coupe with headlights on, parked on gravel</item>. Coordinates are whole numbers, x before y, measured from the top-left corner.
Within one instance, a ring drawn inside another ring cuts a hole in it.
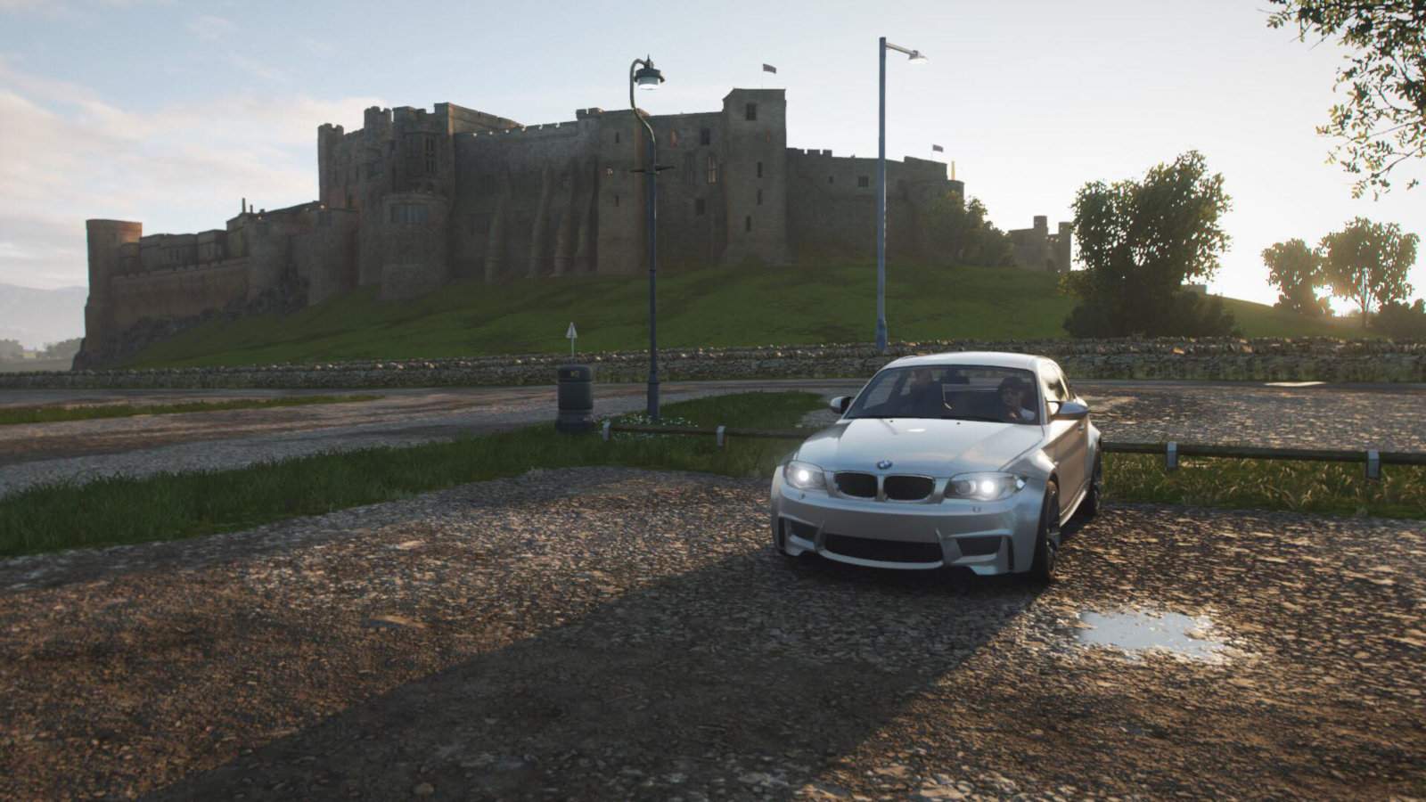
[[[1098,509],[1099,430],[1044,357],[906,357],[831,410],[773,474],[789,557],[1048,581],[1061,524]]]

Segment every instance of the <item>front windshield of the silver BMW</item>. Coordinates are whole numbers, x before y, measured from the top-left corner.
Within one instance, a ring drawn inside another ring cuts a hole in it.
[[[871,377],[846,417],[1038,424],[1041,404],[1037,384],[1032,372],[1017,368],[887,368]]]

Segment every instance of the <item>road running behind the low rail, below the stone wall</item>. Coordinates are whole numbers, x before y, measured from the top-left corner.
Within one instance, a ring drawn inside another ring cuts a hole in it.
[[[848,380],[666,382],[665,402],[749,390],[854,392]],[[1426,450],[1420,387],[1082,381],[1105,435],[1121,441]],[[331,391],[13,390],[0,407],[164,404]],[[217,469],[322,451],[409,445],[553,420],[553,387],[385,390],[378,401],[0,427],[0,495],[44,481]],[[596,414],[643,408],[640,384],[595,387]]]

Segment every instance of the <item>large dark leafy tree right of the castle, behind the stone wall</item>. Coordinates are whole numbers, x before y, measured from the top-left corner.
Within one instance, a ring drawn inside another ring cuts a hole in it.
[[[1188,298],[1184,283],[1208,280],[1229,237],[1222,174],[1188,151],[1142,181],[1085,184],[1074,200],[1074,235],[1085,268],[1065,277],[1081,304],[1065,320],[1077,337],[1226,334],[1222,303]]]

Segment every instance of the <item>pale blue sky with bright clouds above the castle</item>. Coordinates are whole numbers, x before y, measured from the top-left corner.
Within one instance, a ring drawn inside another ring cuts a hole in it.
[[[1426,186],[1405,190],[1426,164],[1353,200],[1315,133],[1343,51],[1266,16],[1266,0],[0,0],[0,283],[84,285],[86,218],[201,231],[244,197],[314,200],[317,127],[358,128],[368,106],[572,120],[623,107],[643,56],[667,78],[640,96],[655,114],[781,87],[790,147],[874,156],[886,36],[928,56],[888,54],[888,158],[940,144],[998,227],[1047,214],[1054,230],[1085,183],[1196,148],[1232,197],[1209,288],[1272,303],[1261,251],[1276,241],[1316,243],[1358,215],[1426,237]],[[1422,251],[1412,297],[1426,294]]]

